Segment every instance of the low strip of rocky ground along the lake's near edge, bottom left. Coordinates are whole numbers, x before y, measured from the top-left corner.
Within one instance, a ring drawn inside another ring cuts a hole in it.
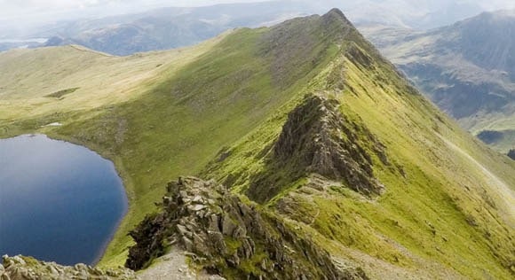
[[[4,265],[0,265],[2,280],[123,280],[137,279],[134,271],[127,268],[102,270],[91,268],[85,264],[65,267],[55,262],[36,261],[33,258],[15,256],[3,257]]]

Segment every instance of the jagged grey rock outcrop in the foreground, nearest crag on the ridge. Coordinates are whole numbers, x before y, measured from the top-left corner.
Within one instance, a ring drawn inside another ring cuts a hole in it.
[[[227,278],[367,278],[359,268],[337,268],[329,253],[280,218],[213,181],[193,177],[169,183],[162,212],[147,216],[131,237],[136,245],[126,266],[133,269],[177,245],[196,265]]]

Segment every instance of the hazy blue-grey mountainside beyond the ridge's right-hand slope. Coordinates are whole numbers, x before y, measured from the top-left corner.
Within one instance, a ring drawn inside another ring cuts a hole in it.
[[[514,11],[484,12],[428,32],[362,30],[464,128],[503,152],[515,144]]]

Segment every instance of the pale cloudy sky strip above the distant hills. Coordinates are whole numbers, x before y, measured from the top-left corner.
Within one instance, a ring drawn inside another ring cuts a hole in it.
[[[26,31],[43,24],[66,19],[145,12],[164,6],[201,6],[264,1],[266,0],[0,0],[0,38],[3,37],[3,34]],[[368,16],[392,17],[393,15],[393,18],[397,19],[399,13],[402,12],[405,17],[416,13],[435,11],[439,15],[439,11],[443,11],[441,9],[452,6],[455,8],[448,8],[448,10],[453,12],[453,9],[459,10],[464,7],[464,4],[468,4],[468,8],[473,12],[515,9],[514,0],[320,0],[309,2],[313,6],[317,4],[338,6],[344,12],[354,12],[357,16],[365,18]],[[346,11],[345,8],[348,10]],[[469,14],[466,15],[469,16]],[[400,15],[400,18],[402,16]]]

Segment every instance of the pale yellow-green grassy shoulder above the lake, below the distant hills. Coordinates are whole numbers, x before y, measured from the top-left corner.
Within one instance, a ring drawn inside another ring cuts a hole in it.
[[[4,125],[0,133],[16,135],[17,128],[34,129],[36,124],[53,121],[66,123],[71,121],[70,114],[83,112],[79,114],[89,116],[91,111],[137,98],[210,50],[223,36],[193,48],[131,57],[108,56],[81,46],[1,52],[0,120]],[[67,89],[76,90],[52,97]],[[6,123],[12,131],[5,130]]]

